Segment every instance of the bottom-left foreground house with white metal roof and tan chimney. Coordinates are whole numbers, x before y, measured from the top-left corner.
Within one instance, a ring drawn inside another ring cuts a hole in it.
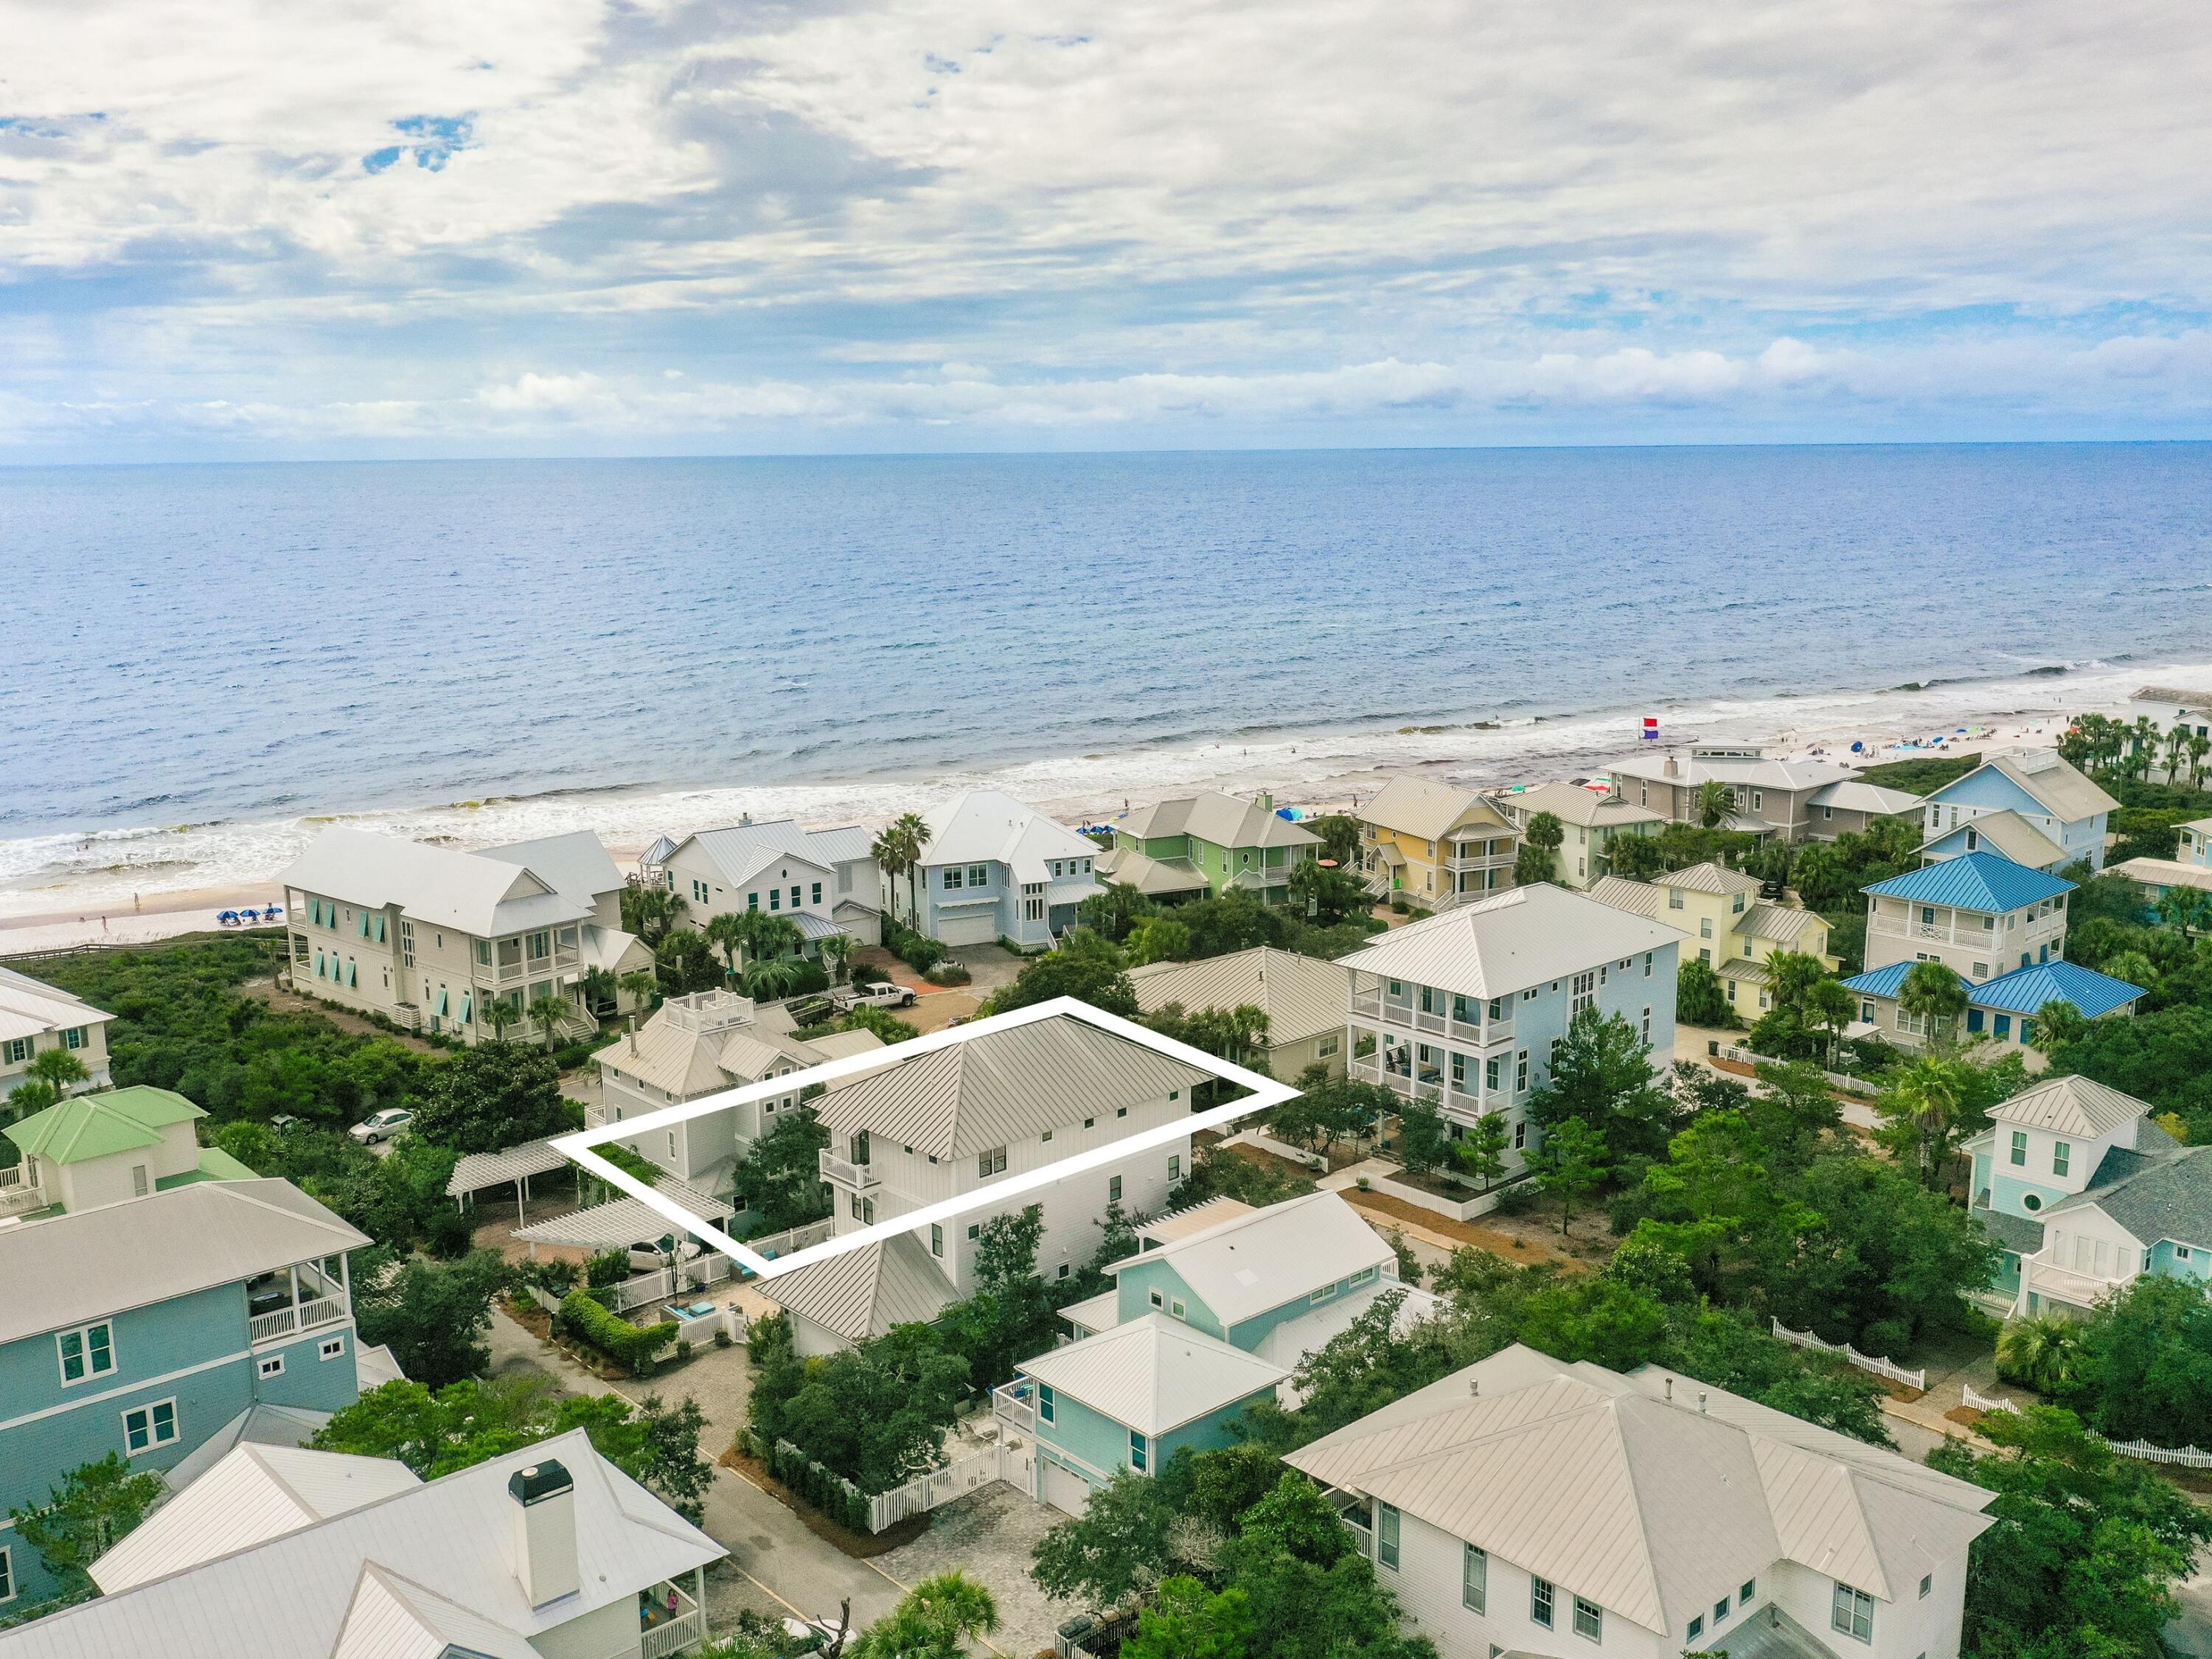
[[[723,1555],[582,1429],[436,1480],[239,1447],[0,1659],[668,1659],[706,1639]]]

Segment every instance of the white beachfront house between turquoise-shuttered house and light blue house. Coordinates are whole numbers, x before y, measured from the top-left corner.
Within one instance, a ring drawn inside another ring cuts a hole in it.
[[[845,825],[803,830],[792,818],[732,823],[690,836],[664,836],[639,872],[684,900],[684,920],[761,911],[799,929],[801,951],[845,933],[854,945],[883,938],[883,876],[874,836]]]

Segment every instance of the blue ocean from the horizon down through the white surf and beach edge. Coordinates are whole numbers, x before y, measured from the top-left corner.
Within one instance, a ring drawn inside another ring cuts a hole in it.
[[[2212,445],[0,469],[0,907],[2046,714],[2212,684],[2208,553]]]

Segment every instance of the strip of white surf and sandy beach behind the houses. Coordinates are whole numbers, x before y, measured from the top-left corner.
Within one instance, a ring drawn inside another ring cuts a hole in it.
[[[2192,679],[2194,677],[2194,679]],[[927,779],[752,787],[593,790],[462,801],[436,807],[303,814],[268,823],[102,830],[0,843],[27,860],[0,889],[0,958],[102,942],[150,942],[215,929],[215,914],[281,902],[276,874],[327,823],[403,834],[458,849],[593,830],[626,872],[655,836],[754,818],[876,827],[971,787],[998,787],[1068,823],[1110,823],[1128,807],[1192,790],[1252,794],[1279,805],[1343,810],[1398,772],[1467,787],[1595,776],[1635,752],[1692,743],[1759,743],[1774,754],[1876,765],[1909,754],[2048,745],[2070,714],[2119,712],[2132,688],[2212,684],[2212,666],[2099,664],[2075,675],[2022,670],[2008,681],[1922,690],[1778,695],[1694,706],[1655,699],[1663,741],[1639,741],[1641,714],[1599,710],[1515,721],[1241,737],[1177,750],[1057,757],[1000,768],[945,768]],[[1962,734],[1966,728],[1971,734]],[[1851,743],[1865,745],[1851,754]],[[1920,743],[1920,748],[1898,748]],[[7,865],[0,863],[0,874]]]

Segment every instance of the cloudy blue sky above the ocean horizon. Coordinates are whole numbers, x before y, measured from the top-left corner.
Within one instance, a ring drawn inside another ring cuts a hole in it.
[[[2185,0],[27,0],[0,460],[2212,436]]]

